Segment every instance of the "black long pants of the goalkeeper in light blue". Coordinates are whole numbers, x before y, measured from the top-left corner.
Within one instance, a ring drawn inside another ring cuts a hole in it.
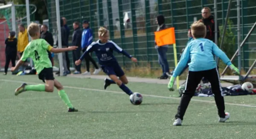
[[[211,84],[212,93],[214,94],[219,117],[225,118],[225,104],[224,97],[221,94],[221,83],[218,70],[217,68],[214,68],[197,72],[189,71],[186,80],[186,88],[183,92],[183,95],[181,96],[180,105],[178,106],[178,112],[175,115],[175,119],[180,118],[181,120],[183,120],[183,116],[189,105],[189,101],[191,100],[192,96],[194,96],[196,87],[198,86],[203,77],[206,78]]]

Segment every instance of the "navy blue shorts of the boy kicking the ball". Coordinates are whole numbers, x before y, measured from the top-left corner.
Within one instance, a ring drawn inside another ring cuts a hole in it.
[[[103,72],[107,75],[116,75],[117,77],[122,77],[125,75],[125,72],[119,66],[119,64],[111,65],[111,66],[101,66]]]

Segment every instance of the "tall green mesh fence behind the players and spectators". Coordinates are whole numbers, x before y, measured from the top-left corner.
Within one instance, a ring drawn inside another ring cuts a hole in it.
[[[157,28],[155,18],[158,14],[166,17],[166,25],[175,27],[177,52],[181,51],[187,43],[187,30],[194,18],[201,18],[201,9],[208,6],[213,9],[213,0],[59,0],[61,17],[67,18],[70,27],[70,42],[72,39],[74,21],[89,20],[97,37],[99,26],[110,29],[110,38],[123,49],[127,50],[139,60],[140,66],[150,65],[152,69],[159,68],[157,52],[154,49],[154,31]],[[49,11],[50,31],[56,32],[55,0],[47,0]],[[224,25],[227,13],[228,0],[217,0],[218,24]],[[236,1],[231,3],[230,21],[224,45],[232,47],[232,52],[237,49],[237,6]],[[241,39],[247,35],[251,26],[256,21],[256,1],[241,0]],[[246,44],[242,54],[242,67],[246,70],[256,58],[256,31],[254,31]],[[229,42],[230,41],[230,42]],[[229,50],[231,52],[231,50]],[[172,46],[169,46],[168,61],[174,68]],[[119,63],[130,67],[131,61],[122,55],[116,54]],[[72,58],[70,53],[70,59]],[[71,60],[72,61],[72,60]],[[237,61],[237,60],[236,60]]]

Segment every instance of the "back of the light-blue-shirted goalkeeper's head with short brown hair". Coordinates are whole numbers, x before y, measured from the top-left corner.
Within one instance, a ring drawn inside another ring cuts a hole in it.
[[[204,38],[206,36],[206,26],[200,21],[195,21],[191,25],[191,34],[194,38]]]

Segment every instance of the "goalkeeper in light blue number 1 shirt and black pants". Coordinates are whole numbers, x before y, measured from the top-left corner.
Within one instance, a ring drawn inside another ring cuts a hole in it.
[[[215,103],[218,108],[219,122],[225,122],[229,119],[230,114],[225,113],[224,97],[221,93],[221,84],[218,75],[218,70],[214,56],[216,55],[227,64],[230,69],[235,70],[240,74],[237,69],[227,57],[227,55],[218,48],[212,41],[205,39],[206,26],[200,21],[196,21],[191,25],[192,36],[195,40],[191,41],[185,48],[181,55],[180,62],[174,70],[174,73],[168,84],[170,91],[173,91],[173,84],[177,75],[180,74],[182,69],[189,62],[189,74],[186,80],[186,88],[181,96],[178,112],[175,115],[175,122],[173,125],[181,125],[183,116],[189,105],[189,101],[195,94],[195,89],[200,83],[201,79],[206,78],[212,86],[212,93],[214,93]]]

